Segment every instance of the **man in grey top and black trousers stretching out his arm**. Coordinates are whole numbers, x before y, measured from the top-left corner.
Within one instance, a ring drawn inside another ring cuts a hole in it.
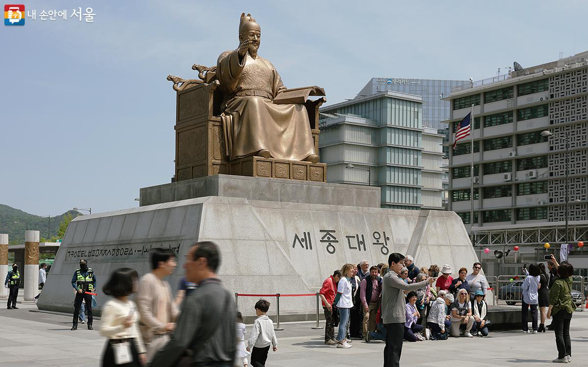
[[[382,281],[382,323],[386,327],[386,346],[384,347],[384,367],[399,367],[402,353],[402,339],[406,322],[406,298],[403,291],[416,291],[436,278],[406,284],[400,279],[400,269],[404,267],[404,255],[393,252],[388,257],[390,270]]]

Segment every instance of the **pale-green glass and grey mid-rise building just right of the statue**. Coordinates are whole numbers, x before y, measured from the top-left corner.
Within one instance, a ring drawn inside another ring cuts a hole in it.
[[[422,106],[420,96],[385,91],[322,107],[328,181],[378,186],[385,208],[442,210],[443,136],[422,126]]]

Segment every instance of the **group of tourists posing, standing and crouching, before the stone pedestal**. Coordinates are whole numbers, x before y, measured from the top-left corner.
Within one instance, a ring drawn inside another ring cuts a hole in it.
[[[418,268],[411,256],[406,256],[399,264],[402,266],[397,278],[406,285],[399,294],[403,297],[401,334],[405,341],[447,339],[449,334],[488,335],[490,321],[485,302],[488,282],[480,273],[482,264],[473,264],[470,275],[466,268],[461,268],[456,279],[450,275],[450,265],[443,265],[441,270],[436,264]],[[362,260],[358,265],[343,265],[323,282],[319,296],[326,319],[326,345],[351,348],[354,338],[366,342],[386,340],[387,331],[382,321],[383,280],[389,269],[386,264],[370,267],[367,260]]]

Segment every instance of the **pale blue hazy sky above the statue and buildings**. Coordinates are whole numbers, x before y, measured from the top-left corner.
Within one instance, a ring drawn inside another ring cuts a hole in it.
[[[0,203],[39,216],[138,206],[169,183],[175,92],[238,45],[239,16],[286,86],[325,88],[326,105],[374,77],[474,80],[513,61],[588,50],[588,2],[28,1],[36,19],[0,30]],[[92,8],[93,22],[70,18]],[[68,19],[41,21],[66,9]]]

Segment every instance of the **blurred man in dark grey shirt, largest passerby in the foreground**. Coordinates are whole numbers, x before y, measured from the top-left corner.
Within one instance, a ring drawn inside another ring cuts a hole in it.
[[[176,366],[182,355],[193,367],[233,366],[237,310],[232,295],[216,277],[219,264],[216,244],[206,241],[192,245],[183,267],[186,281],[198,284],[198,288],[183,302],[176,330],[153,357],[151,366]]]

